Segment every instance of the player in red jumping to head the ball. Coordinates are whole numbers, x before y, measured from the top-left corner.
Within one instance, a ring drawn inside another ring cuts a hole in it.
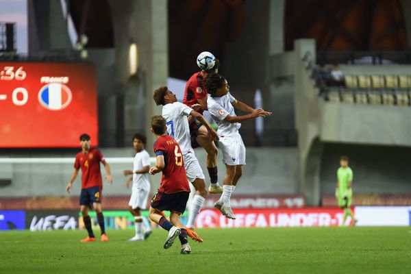
[[[210,69],[201,70],[194,73],[186,84],[186,89],[184,90],[184,105],[188,105],[190,108],[194,108],[196,104],[201,105],[201,108],[197,110],[200,114],[203,114],[204,110],[207,110],[207,90],[203,88],[203,78],[208,74],[219,72],[220,62],[218,59],[215,60],[214,66]],[[190,125],[190,135],[191,135],[191,146],[193,149],[196,147],[203,147],[207,152],[206,166],[208,170],[208,175],[210,175],[211,185],[208,188],[208,192],[222,193],[223,188],[219,184],[219,176],[217,171],[217,153],[219,152],[214,140],[210,138],[206,127],[196,119],[189,119]]]

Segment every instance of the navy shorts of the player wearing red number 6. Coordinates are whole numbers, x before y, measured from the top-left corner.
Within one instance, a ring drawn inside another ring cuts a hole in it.
[[[166,193],[157,190],[157,193],[153,199],[151,199],[151,208],[160,211],[175,211],[183,214],[186,210],[188,196],[190,196],[190,192],[186,191]]]

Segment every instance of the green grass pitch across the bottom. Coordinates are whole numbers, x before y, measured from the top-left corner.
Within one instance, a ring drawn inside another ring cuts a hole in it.
[[[192,253],[166,232],[127,242],[132,230],[108,230],[109,242],[80,243],[85,231],[0,232],[0,273],[411,273],[410,227],[197,229]]]

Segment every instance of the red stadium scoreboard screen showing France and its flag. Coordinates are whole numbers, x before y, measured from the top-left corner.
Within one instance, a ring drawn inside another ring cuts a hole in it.
[[[98,145],[95,66],[0,62],[0,147]]]

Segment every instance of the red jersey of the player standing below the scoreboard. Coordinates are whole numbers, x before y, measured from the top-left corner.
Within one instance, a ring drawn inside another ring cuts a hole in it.
[[[90,149],[86,154],[77,153],[74,168],[82,169],[82,188],[92,188],[93,186],[103,188],[100,162],[105,163],[105,159],[98,149]]]

